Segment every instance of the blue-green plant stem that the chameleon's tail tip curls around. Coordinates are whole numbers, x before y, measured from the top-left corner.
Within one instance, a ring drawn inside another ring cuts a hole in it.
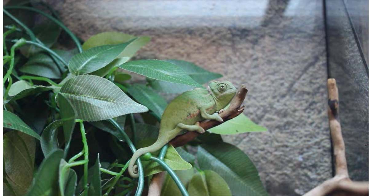
[[[124,132],[124,130],[119,126],[119,124],[113,120],[113,119],[108,119],[110,123],[113,124],[113,126],[116,127],[116,129],[119,130],[119,132],[122,134],[124,137],[126,143],[128,143],[129,148],[132,150],[132,152],[136,152],[136,148],[134,147],[131,139],[129,139],[128,135]],[[137,191],[135,193],[135,196],[141,196],[142,195],[142,190],[144,187],[144,173],[143,173],[143,168],[142,168],[142,163],[140,159],[137,159],[137,167],[138,167],[138,186],[137,186]]]

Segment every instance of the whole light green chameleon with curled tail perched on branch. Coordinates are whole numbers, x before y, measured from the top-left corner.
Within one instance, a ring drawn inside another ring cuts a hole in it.
[[[171,139],[186,131],[204,133],[199,125],[205,119],[223,122],[218,115],[229,106],[236,93],[229,81],[212,81],[207,89],[196,88],[186,91],[171,101],[161,117],[158,139],[148,147],[138,149],[129,161],[128,172],[131,177],[138,177],[136,160],[145,153],[161,149]]]

